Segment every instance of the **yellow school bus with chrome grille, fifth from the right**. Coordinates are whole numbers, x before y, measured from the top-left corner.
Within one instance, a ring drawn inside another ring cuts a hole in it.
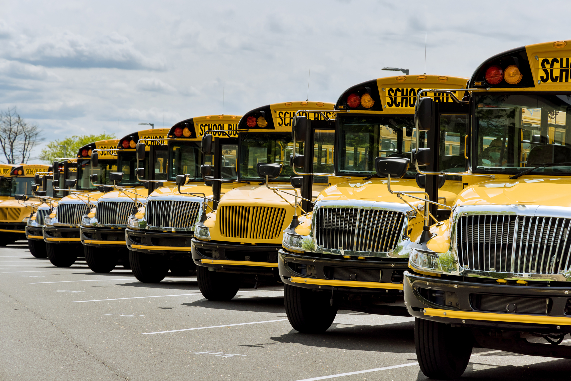
[[[168,131],[136,131],[119,139],[113,147],[118,158],[114,176],[119,178],[114,186],[106,187],[96,207],[83,216],[80,228],[85,260],[92,271],[110,272],[118,263],[131,268],[125,245],[127,219],[146,203],[148,187],[151,185],[152,191],[154,185],[152,180],[163,180]],[[137,157],[135,148],[139,141],[144,142],[144,156]],[[144,181],[146,179],[151,181]]]

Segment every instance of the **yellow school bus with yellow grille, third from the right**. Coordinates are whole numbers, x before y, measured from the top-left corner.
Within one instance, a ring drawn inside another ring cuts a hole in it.
[[[308,119],[332,117],[333,103],[283,102],[258,107],[245,114],[238,124],[238,137],[219,138],[215,151],[214,174],[242,182],[220,198],[216,210],[204,215],[195,226],[192,258],[197,264],[200,292],[210,300],[230,300],[240,287],[281,284],[278,276],[278,250],[282,231],[294,215],[295,194],[290,177],[290,157],[303,153],[303,143],[292,140],[292,119],[300,110]],[[331,151],[327,128],[321,135]],[[203,143],[204,144],[204,143]],[[323,158],[325,160],[325,158]],[[283,166],[266,184],[258,167],[264,163]],[[329,162],[328,162],[329,165]],[[316,178],[315,196],[328,184],[327,177]],[[311,194],[305,195],[312,198]],[[297,206],[300,208],[301,206]]]

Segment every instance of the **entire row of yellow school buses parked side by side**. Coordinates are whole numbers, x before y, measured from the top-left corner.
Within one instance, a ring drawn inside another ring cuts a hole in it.
[[[571,358],[567,45],[94,142],[25,181],[10,168],[30,191],[0,203],[2,243],[25,225],[55,266],[196,274],[210,300],[284,284],[306,334],[340,309],[412,315],[432,378],[473,347]]]

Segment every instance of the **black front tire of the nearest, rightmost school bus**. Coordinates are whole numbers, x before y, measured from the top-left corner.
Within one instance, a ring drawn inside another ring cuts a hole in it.
[[[420,370],[428,378],[459,378],[470,360],[473,347],[468,328],[415,318],[415,346]]]

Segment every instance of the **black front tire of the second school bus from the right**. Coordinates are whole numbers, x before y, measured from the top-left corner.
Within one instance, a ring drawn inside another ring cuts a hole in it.
[[[337,314],[337,307],[329,304],[330,295],[284,284],[284,305],[293,329],[304,334],[327,331]]]

